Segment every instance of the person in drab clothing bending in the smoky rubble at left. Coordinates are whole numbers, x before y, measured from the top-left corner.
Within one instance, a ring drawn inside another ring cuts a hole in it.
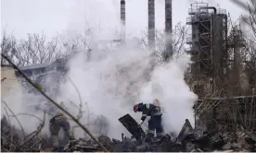
[[[73,135],[70,132],[70,123],[67,120],[67,117],[63,112],[57,110],[56,115],[50,120],[50,133],[52,137],[52,151],[61,151],[58,147],[58,132],[60,128],[63,128],[65,135],[70,139],[74,139]]]

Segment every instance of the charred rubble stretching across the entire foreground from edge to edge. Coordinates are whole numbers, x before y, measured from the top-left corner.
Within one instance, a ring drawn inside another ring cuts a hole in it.
[[[20,138],[20,130],[12,128],[6,118],[1,120],[1,151],[46,151],[49,140],[40,138],[35,133]],[[202,131],[192,129],[189,121],[183,126],[180,135],[163,135],[160,139],[145,141],[136,140],[134,136],[126,137],[122,134],[121,140],[110,139],[107,135],[97,137],[97,140],[110,152],[176,152],[176,151],[256,151],[256,141],[245,135],[237,136],[235,133],[221,131]],[[103,151],[93,140],[80,138],[70,140],[63,148],[64,152]]]

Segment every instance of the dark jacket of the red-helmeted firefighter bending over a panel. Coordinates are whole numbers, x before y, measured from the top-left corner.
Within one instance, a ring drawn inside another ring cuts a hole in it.
[[[160,106],[151,103],[140,104],[139,111],[142,112],[141,120],[145,121],[147,116],[161,115]]]

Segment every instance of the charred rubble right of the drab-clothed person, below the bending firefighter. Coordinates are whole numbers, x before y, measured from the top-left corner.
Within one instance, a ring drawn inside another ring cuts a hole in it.
[[[180,134],[164,135],[160,139],[149,142],[145,138],[136,140],[123,136],[122,140],[110,139],[106,135],[97,137],[98,141],[110,152],[205,152],[205,151],[256,151],[256,141],[247,136],[237,136],[235,133],[223,133],[218,130],[202,131],[193,129],[188,120]],[[102,151],[91,140],[74,140],[64,148],[64,151]]]

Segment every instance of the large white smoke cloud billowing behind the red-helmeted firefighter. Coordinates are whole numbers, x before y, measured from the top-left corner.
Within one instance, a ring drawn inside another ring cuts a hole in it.
[[[167,65],[156,66],[153,71],[151,57],[143,49],[111,48],[107,51],[94,50],[91,61],[86,61],[84,52],[70,61],[68,76],[81,92],[83,102],[87,102],[89,110],[85,109],[85,112],[93,113],[91,117],[94,118],[105,116],[109,123],[109,136],[120,138],[121,133],[127,134],[118,119],[130,113],[139,120],[141,114],[134,114],[134,103],[152,102],[154,98],[160,100],[165,110],[163,124],[166,132],[178,133],[186,118],[193,124],[192,106],[197,96],[189,90],[184,80],[190,56],[179,55]],[[80,101],[70,82],[62,85],[60,97],[76,114],[77,110],[72,109],[68,101],[76,105]],[[86,113],[81,119],[83,124],[89,124]],[[89,128],[94,131],[97,127],[90,124]],[[81,131],[76,132],[76,135],[81,134]]]

